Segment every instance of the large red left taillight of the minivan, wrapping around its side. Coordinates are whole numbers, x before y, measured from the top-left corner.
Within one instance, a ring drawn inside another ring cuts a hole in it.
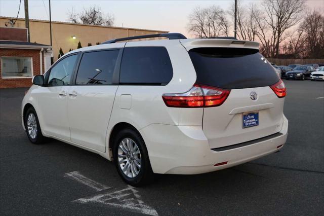
[[[195,84],[189,91],[180,94],[164,94],[164,102],[170,107],[211,107],[221,105],[230,90]]]

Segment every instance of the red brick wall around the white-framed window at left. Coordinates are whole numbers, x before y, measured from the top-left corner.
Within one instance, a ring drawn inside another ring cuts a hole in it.
[[[6,57],[32,57],[33,75],[39,75],[41,73],[41,62],[39,61],[39,51],[41,50],[27,50],[27,49],[0,49],[0,58]],[[44,74],[44,55],[43,55],[43,74]],[[10,78],[2,79],[2,69],[0,64],[0,88],[18,88],[18,87],[30,87],[32,85],[31,78]]]

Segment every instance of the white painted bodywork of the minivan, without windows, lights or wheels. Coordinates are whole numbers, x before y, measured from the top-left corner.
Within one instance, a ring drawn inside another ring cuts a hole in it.
[[[112,130],[119,123],[128,123],[142,136],[156,173],[215,171],[270,154],[277,151],[279,145],[284,145],[288,127],[288,121],[282,114],[285,99],[278,98],[269,86],[233,89],[219,107],[168,107],[162,99],[164,94],[187,92],[196,82],[188,50],[197,47],[258,50],[256,42],[225,39],[127,42],[85,47],[62,58],[75,52],[140,46],[167,49],[173,69],[173,77],[167,85],[33,85],[23,99],[22,111],[30,103],[36,110],[44,136],[95,152],[108,160],[112,160],[109,149]],[[60,98],[59,93],[63,90],[67,96]],[[258,93],[256,101],[251,100],[251,91]],[[74,93],[77,96],[73,96]],[[260,125],[242,129],[241,114],[245,112],[259,112]],[[282,135],[244,148],[222,153],[212,150],[277,132]],[[228,161],[227,165],[214,167],[215,163],[224,160]]]

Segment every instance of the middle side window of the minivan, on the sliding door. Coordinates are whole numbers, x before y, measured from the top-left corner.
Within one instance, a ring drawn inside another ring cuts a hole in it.
[[[77,71],[75,85],[109,85],[119,50],[84,53]]]

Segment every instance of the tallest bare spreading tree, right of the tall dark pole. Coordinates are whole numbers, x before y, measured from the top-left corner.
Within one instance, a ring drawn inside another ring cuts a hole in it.
[[[279,44],[288,37],[285,35],[286,30],[296,25],[301,19],[304,1],[264,0],[262,9],[262,14],[259,12],[258,17],[256,16],[261,29],[257,36],[268,57],[278,57]],[[257,15],[257,13],[254,14]],[[265,21],[268,29],[264,29],[260,25],[262,20]]]

